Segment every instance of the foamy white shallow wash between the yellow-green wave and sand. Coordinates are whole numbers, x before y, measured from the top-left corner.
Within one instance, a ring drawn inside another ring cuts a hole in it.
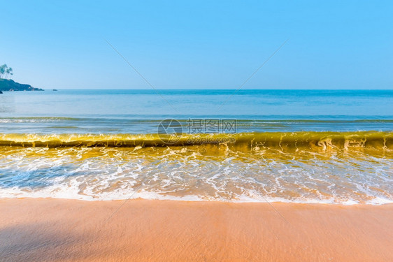
[[[393,203],[393,161],[387,157],[294,159],[185,148],[29,148],[1,152],[0,198],[84,201]]]

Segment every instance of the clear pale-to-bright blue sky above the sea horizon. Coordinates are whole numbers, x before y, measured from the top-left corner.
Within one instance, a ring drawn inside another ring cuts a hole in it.
[[[0,1],[0,64],[44,89],[393,89],[393,1]]]

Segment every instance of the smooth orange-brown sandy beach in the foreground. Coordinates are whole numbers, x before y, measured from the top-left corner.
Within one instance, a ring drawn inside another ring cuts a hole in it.
[[[393,205],[122,204],[0,199],[0,261],[393,261]]]

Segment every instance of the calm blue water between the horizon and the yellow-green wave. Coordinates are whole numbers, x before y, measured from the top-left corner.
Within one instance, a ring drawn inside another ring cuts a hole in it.
[[[255,120],[239,131],[382,131],[392,130],[393,90],[4,92],[0,114],[1,133],[155,133],[147,120],[169,117]]]

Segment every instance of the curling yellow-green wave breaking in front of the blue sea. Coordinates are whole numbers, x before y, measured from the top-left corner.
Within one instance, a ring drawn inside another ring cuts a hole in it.
[[[376,148],[393,149],[393,132],[234,133],[234,134],[0,134],[0,146],[15,147],[166,147],[226,144],[231,147],[267,147],[281,150]]]

